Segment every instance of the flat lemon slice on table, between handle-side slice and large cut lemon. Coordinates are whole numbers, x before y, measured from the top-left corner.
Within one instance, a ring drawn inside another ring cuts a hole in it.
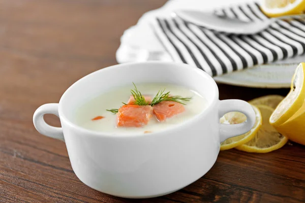
[[[269,117],[274,109],[265,105],[257,105],[256,107],[262,115],[262,126],[252,140],[235,148],[245,152],[267,153],[283,147],[288,138],[269,124]]]

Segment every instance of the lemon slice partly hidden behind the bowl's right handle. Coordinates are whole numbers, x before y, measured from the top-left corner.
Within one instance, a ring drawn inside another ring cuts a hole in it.
[[[261,116],[260,111],[256,107],[253,106],[253,109],[254,109],[254,112],[256,115],[255,124],[254,124],[253,128],[245,134],[241,134],[240,136],[236,136],[236,137],[225,140],[224,142],[221,143],[220,150],[232,149],[238,145],[247,143],[255,136],[258,129],[262,125],[262,116]],[[247,117],[242,113],[229,112],[220,119],[220,122],[226,123],[226,124],[237,124],[237,123],[242,123],[243,121],[246,121],[246,120],[247,120]]]

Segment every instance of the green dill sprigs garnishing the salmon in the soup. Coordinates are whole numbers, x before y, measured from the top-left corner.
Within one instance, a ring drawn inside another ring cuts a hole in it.
[[[135,86],[135,89],[130,90],[130,92],[135,99],[134,104],[139,105],[139,106],[148,105],[148,102],[145,100],[145,97],[141,94],[141,92],[137,89],[135,83],[133,83],[133,85]],[[185,101],[190,101],[192,99],[192,97],[170,96],[169,95],[170,92],[164,93],[164,91],[165,91],[165,89],[160,89],[158,91],[157,95],[151,101],[151,104],[150,104],[151,107],[160,103],[161,101],[176,101],[177,103],[180,103],[182,105],[186,105],[184,102]],[[122,103],[124,105],[127,105],[124,102],[122,102]],[[116,114],[118,112],[118,109],[109,109],[109,110],[106,110],[106,111],[110,111],[110,112]]]

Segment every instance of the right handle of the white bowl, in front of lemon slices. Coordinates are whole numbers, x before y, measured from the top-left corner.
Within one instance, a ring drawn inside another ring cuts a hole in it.
[[[238,99],[221,100],[219,105],[219,118],[228,112],[237,111],[247,116],[247,120],[238,124],[220,124],[220,142],[224,142],[228,138],[240,136],[251,130],[255,123],[255,112],[247,101]]]

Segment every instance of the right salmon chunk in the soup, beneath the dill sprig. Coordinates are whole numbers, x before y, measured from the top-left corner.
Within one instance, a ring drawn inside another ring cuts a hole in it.
[[[153,108],[154,114],[160,122],[185,111],[185,107],[176,101],[161,101]]]

